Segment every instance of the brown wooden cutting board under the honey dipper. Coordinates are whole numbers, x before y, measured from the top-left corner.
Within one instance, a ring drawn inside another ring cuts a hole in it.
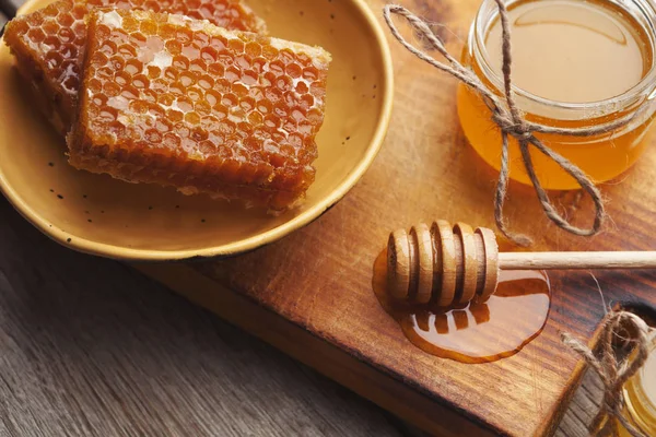
[[[376,11],[384,3],[370,0]],[[446,24],[441,34],[458,52],[479,0],[403,4]],[[390,231],[435,218],[494,227],[496,175],[464,139],[455,80],[390,45],[393,122],[377,161],[344,200],[306,228],[244,256],[138,269],[429,432],[549,435],[582,370],[559,333],[589,340],[604,314],[588,272],[552,274],[543,332],[518,354],[478,365],[414,347],[372,292],[373,263]],[[655,179],[651,147],[630,174],[602,187],[612,220],[594,238],[557,229],[523,187],[512,187],[506,212],[515,229],[535,237],[534,250],[654,249]],[[578,223],[589,223],[587,199],[575,192],[553,197]],[[595,275],[607,304],[654,311],[656,273]]]

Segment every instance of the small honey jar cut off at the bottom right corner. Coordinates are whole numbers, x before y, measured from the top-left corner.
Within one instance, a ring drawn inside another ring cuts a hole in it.
[[[656,436],[656,331],[652,332],[649,356],[637,373],[624,383],[622,415],[645,436]],[[630,433],[620,428],[620,435]]]

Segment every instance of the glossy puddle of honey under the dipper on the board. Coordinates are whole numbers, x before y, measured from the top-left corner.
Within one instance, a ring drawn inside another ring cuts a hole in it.
[[[373,288],[385,311],[415,346],[462,363],[516,354],[542,331],[551,307],[549,279],[539,271],[502,271],[490,300],[444,310],[396,302],[386,282],[387,252],[383,251],[374,264]]]

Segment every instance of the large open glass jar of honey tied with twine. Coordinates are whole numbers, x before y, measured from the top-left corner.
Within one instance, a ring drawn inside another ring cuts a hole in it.
[[[506,1],[511,24],[513,86],[526,120],[555,128],[588,129],[621,117],[632,120],[591,137],[536,133],[593,181],[613,179],[651,143],[656,111],[656,5],[651,0]],[[471,26],[462,63],[502,96],[501,23],[493,0],[484,0]],[[458,116],[478,154],[501,165],[501,132],[480,94],[458,88]],[[575,189],[555,162],[530,150],[546,189]],[[509,138],[511,178],[530,180],[519,147]]]

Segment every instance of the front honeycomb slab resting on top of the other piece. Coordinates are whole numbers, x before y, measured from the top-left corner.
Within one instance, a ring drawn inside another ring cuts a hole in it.
[[[283,210],[314,180],[330,55],[145,11],[89,23],[70,163]]]

